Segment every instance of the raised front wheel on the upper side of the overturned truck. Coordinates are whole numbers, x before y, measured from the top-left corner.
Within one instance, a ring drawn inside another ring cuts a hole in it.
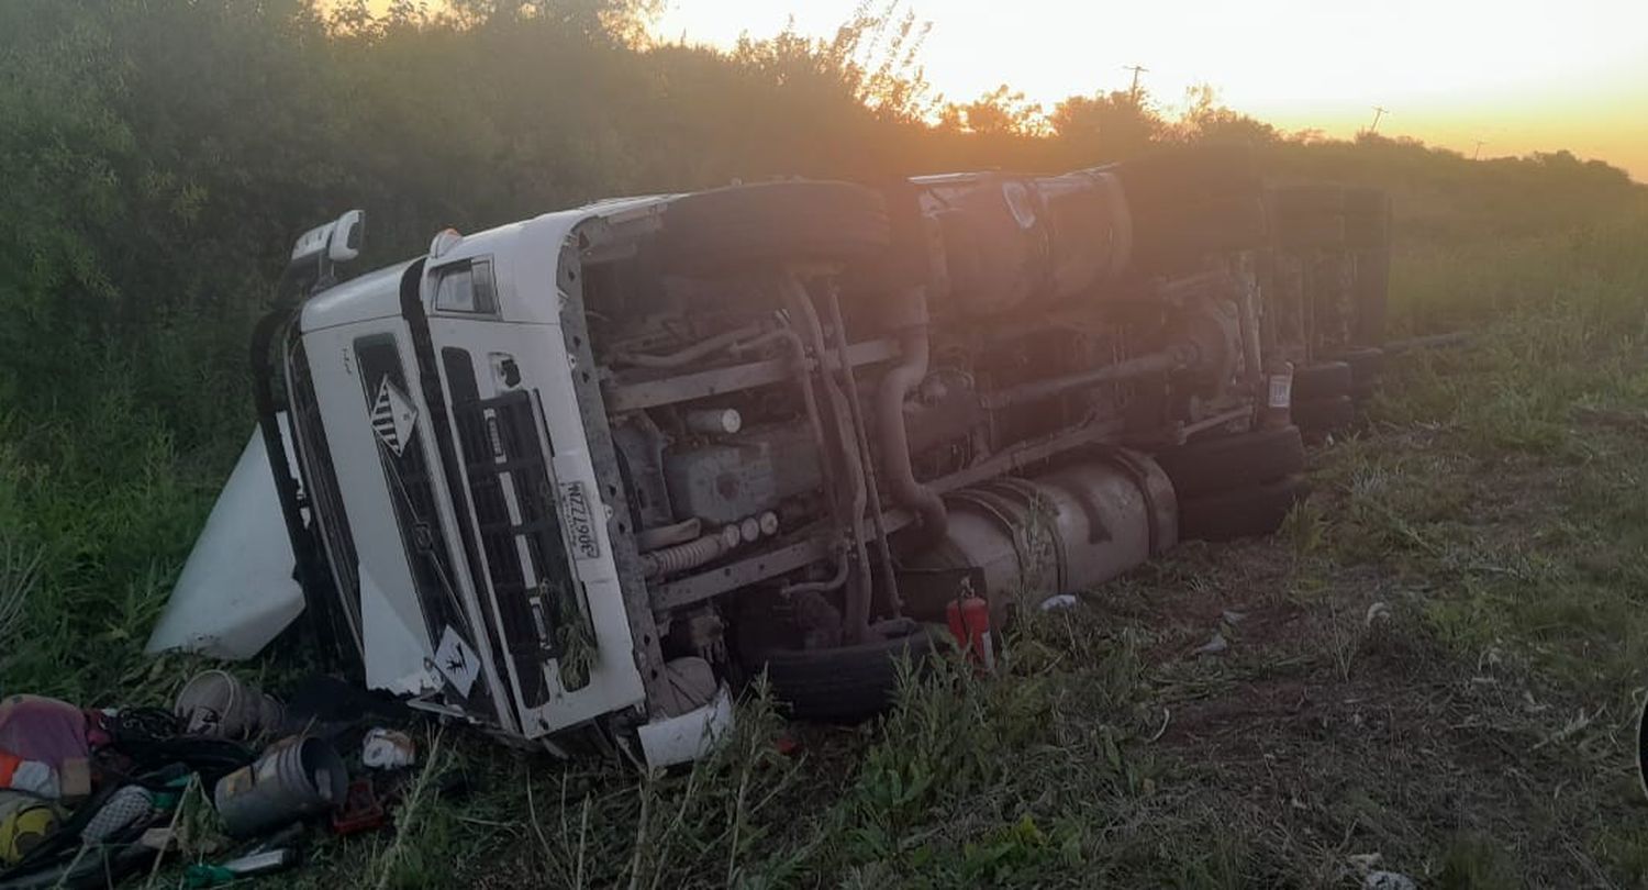
[[[659,260],[669,272],[738,265],[844,262],[892,244],[875,190],[839,181],[755,183],[684,194],[664,211]]]

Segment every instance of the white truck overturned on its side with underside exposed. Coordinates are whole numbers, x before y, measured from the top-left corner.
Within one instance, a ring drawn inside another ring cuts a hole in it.
[[[1223,147],[788,180],[338,282],[346,214],[252,349],[310,625],[368,686],[550,748],[694,756],[761,671],[796,715],[870,714],[957,598],[999,628],[1302,496],[1290,363],[1325,386],[1373,344],[1267,305],[1299,269],[1274,204]]]

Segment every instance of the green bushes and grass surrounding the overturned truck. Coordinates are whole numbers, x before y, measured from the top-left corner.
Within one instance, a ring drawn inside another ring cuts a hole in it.
[[[250,325],[292,237],[348,206],[389,260],[606,194],[1243,137],[1277,176],[1391,188],[1394,336],[1473,331],[1391,359],[1282,536],[1187,544],[877,725],[786,727],[756,697],[687,773],[448,728],[400,831],[325,844],[302,878],[1648,882],[1648,201],[1622,171],[1285,135],[1211,94],[1180,117],[946,102],[897,12],[714,53],[648,44],[644,5],[455,7],[0,8],[0,692],[175,691],[186,664],[140,648],[250,432]],[[279,684],[292,659],[249,669]],[[433,791],[458,771],[468,794]]]

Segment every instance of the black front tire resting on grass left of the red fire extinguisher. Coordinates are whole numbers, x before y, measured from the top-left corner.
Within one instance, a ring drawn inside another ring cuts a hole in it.
[[[840,646],[834,649],[780,649],[755,659],[753,672],[766,669],[773,696],[804,720],[852,724],[882,714],[898,691],[898,663],[908,653],[920,666],[936,651],[933,631]]]

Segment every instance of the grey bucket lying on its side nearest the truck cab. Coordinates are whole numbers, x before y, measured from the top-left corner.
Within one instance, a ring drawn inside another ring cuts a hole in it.
[[[213,803],[234,837],[252,837],[343,806],[349,771],[321,738],[293,735],[218,780]]]

